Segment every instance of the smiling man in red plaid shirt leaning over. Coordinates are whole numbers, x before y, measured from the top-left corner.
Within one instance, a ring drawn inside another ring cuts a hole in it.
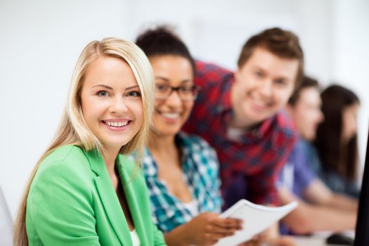
[[[298,38],[280,28],[254,35],[234,73],[200,61],[196,66],[201,91],[184,130],[216,149],[224,207],[241,198],[278,204],[275,183],[296,138],[280,110],[303,74]]]

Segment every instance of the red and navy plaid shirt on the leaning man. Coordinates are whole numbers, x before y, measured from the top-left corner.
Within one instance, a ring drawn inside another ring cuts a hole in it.
[[[201,90],[183,130],[202,136],[216,149],[225,207],[240,198],[278,204],[276,181],[297,138],[291,119],[278,112],[239,141],[228,139],[233,72],[200,61],[196,69],[195,83]]]

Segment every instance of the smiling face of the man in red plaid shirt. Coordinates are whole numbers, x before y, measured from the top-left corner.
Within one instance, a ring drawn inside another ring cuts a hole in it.
[[[285,107],[294,89],[299,60],[255,48],[235,72],[231,101],[233,127],[252,127]]]

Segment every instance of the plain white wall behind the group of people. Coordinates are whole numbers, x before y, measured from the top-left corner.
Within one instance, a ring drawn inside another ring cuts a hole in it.
[[[335,80],[360,96],[363,157],[369,121],[367,0],[0,0],[0,185],[13,215],[57,127],[82,48],[108,36],[134,41],[145,27],[167,22],[195,57],[231,69],[251,34],[272,26],[296,32],[306,71],[322,84]]]

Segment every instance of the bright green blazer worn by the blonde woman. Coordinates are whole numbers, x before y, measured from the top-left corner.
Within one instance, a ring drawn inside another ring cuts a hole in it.
[[[165,245],[141,171],[123,155],[116,163],[141,245]],[[27,197],[26,228],[30,245],[132,245],[103,158],[75,145],[41,162]]]

